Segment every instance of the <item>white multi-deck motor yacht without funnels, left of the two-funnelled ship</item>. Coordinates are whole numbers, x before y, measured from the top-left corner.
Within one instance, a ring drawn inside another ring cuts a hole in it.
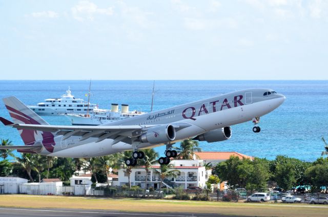
[[[66,94],[60,98],[48,98],[43,103],[28,107],[38,115],[88,114],[96,108],[96,104],[86,103],[81,98],[75,98],[68,88]]]

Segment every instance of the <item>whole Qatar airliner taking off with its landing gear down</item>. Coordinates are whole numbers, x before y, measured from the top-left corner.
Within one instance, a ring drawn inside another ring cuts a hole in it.
[[[232,125],[253,120],[253,132],[260,132],[260,116],[278,108],[285,96],[272,89],[254,88],[216,95],[211,98],[154,111],[99,126],[49,125],[16,97],[3,98],[24,146],[0,146],[18,152],[58,157],[95,157],[133,150],[125,160],[135,166],[145,154],[140,149],[166,145],[159,164],[169,164],[177,152],[172,145],[193,139],[208,143],[228,140]]]

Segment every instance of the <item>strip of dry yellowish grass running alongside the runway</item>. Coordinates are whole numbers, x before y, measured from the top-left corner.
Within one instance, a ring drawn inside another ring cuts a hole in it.
[[[107,199],[12,194],[0,195],[0,206],[104,209],[140,212],[218,213],[249,216],[328,216],[328,206],[325,205]]]

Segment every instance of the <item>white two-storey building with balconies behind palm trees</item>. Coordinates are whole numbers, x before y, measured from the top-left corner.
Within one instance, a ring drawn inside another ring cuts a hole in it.
[[[171,187],[182,187],[187,189],[190,186],[203,188],[208,181],[208,177],[211,174],[211,170],[206,170],[203,166],[202,160],[173,160],[171,161],[173,165],[172,169],[176,169],[179,172],[177,177],[168,177],[162,180],[163,186]],[[153,165],[152,169],[148,172],[147,177],[147,188],[153,187],[155,189],[159,188],[159,183],[161,182],[160,176],[160,166]],[[146,184],[146,170],[145,167],[134,167],[130,174],[131,185],[138,185],[141,188],[145,188]],[[124,168],[118,170],[118,183],[120,186],[128,185],[128,173]]]

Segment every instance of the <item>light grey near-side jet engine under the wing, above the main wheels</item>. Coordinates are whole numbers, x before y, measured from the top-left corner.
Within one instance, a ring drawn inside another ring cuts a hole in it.
[[[141,143],[161,144],[175,139],[175,129],[172,125],[151,127],[139,137]]]

